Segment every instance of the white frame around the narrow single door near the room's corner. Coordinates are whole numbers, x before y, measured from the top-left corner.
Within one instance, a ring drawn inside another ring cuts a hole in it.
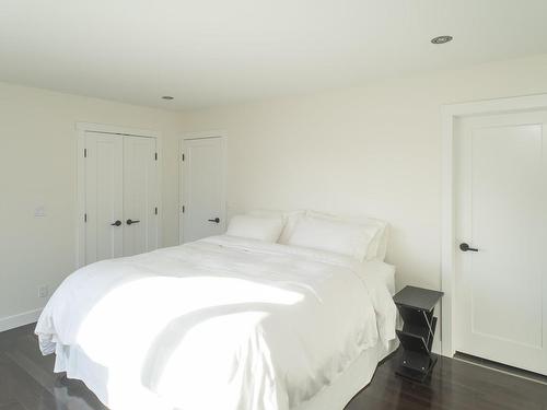
[[[183,204],[184,204],[184,142],[186,140],[201,140],[207,138],[220,138],[222,141],[222,169],[223,169],[223,180],[222,180],[222,211],[221,218],[226,221],[226,172],[228,172],[228,133],[224,130],[211,130],[211,131],[193,131],[184,133],[178,141],[178,244],[183,244],[184,239],[184,218],[183,218]]]

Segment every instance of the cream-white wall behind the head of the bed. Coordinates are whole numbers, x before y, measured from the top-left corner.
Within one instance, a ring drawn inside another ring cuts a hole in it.
[[[545,92],[547,56],[537,56],[182,118],[187,131],[228,131],[232,212],[385,219],[398,286],[440,288],[441,105]]]

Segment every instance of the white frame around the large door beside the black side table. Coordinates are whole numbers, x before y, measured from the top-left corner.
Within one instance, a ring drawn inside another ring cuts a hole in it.
[[[441,351],[452,358],[456,352],[456,242],[455,242],[455,121],[462,117],[547,109],[547,94],[449,104],[441,107]]]

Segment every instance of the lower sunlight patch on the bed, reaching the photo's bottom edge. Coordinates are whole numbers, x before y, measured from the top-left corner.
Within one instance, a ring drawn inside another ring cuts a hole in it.
[[[257,390],[248,391],[251,396],[268,395],[275,400],[276,374],[269,347],[256,331],[267,316],[265,312],[243,312],[194,326],[147,387],[182,409],[241,408],[241,386]],[[220,391],[211,395],[210,386]]]

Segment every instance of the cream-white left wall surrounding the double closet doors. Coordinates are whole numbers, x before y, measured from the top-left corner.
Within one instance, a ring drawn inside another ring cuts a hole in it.
[[[74,270],[77,121],[162,132],[163,244],[177,243],[177,114],[0,83],[0,330]]]

